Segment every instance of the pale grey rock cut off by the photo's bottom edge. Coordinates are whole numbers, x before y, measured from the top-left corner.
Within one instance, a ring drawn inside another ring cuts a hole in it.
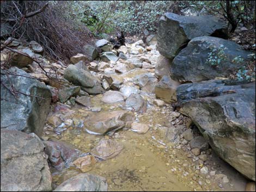
[[[107,191],[107,188],[104,177],[79,174],[66,180],[53,191]]]

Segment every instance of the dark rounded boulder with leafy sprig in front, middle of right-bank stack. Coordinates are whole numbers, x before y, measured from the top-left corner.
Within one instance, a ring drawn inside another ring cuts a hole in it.
[[[210,54],[216,61],[210,61]],[[215,77],[227,77],[245,65],[244,61],[239,60],[248,60],[248,54],[251,52],[243,50],[235,42],[200,36],[192,39],[174,58],[170,73],[174,80],[180,82],[200,82]]]

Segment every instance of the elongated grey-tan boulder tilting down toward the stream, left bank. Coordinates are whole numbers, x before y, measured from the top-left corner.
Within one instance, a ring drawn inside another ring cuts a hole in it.
[[[99,79],[74,65],[69,65],[64,71],[64,78],[75,85],[81,86],[81,89],[88,92],[88,94],[102,94],[104,91]]]

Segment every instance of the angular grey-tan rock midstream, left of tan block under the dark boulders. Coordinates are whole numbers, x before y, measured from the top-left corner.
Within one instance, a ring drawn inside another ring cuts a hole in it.
[[[139,88],[148,93],[152,93],[154,91],[157,83],[157,78],[151,73],[137,75],[133,78],[133,80],[135,84],[139,85]]]

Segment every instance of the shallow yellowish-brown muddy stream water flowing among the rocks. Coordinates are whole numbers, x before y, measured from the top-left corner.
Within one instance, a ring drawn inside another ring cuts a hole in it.
[[[135,70],[120,75],[129,83],[132,77],[144,73],[144,70]],[[92,135],[83,131],[83,128],[66,127],[60,135],[52,135],[50,139],[59,139],[72,144],[84,153],[90,152],[102,138],[109,138],[124,145],[124,150],[118,156],[98,161],[88,173],[100,175],[107,179],[109,191],[240,191],[245,189],[245,179],[232,168],[227,169],[214,154],[208,167],[211,170],[221,170],[229,178],[229,183],[216,181],[214,176],[202,175],[196,169],[196,163],[187,157],[189,152],[170,143],[166,137],[166,127],[171,126],[169,115],[172,107],[157,107],[153,104],[154,94],[141,93],[148,103],[148,110],[144,114],[137,114],[136,120],[149,125],[145,134],[137,134],[130,129],[122,129],[111,135]],[[113,111],[123,108],[124,102],[104,104],[102,95],[92,97],[94,107],[101,107],[101,111]],[[75,106],[67,113],[64,119],[86,121],[90,112],[86,107]],[[49,135],[48,135],[49,136]],[[51,137],[51,136],[50,136]],[[216,160],[217,159],[217,160]],[[212,165],[211,165],[212,164]],[[225,167],[226,170],[222,168]],[[74,166],[57,171],[51,169],[54,188],[66,179],[80,174]]]

